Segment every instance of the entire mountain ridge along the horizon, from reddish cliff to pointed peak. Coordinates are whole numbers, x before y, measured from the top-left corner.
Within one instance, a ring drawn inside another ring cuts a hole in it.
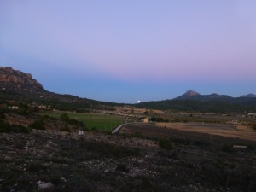
[[[38,100],[51,103],[69,103],[76,108],[98,108],[99,106],[119,106],[125,103],[115,102],[100,102],[92,99],[81,98],[79,96],[61,95],[54,92],[44,90],[43,85],[38,83],[37,80],[32,79],[30,73],[23,73],[15,70],[11,67],[0,67],[0,96],[3,99],[16,98],[23,100]],[[82,103],[82,104],[81,104]],[[154,103],[154,104],[152,104]],[[132,105],[132,104],[131,104]],[[181,110],[212,110],[216,108],[214,105],[223,106],[223,108],[230,108],[236,110],[236,108],[243,108],[250,112],[256,112],[256,97],[253,94],[244,95],[241,97],[232,97],[226,95],[218,95],[212,93],[210,95],[201,95],[195,90],[187,90],[183,95],[177,96],[174,99],[167,99],[159,102],[141,102],[133,104],[134,106],[141,108],[155,108],[155,109],[170,109],[177,108]],[[197,105],[197,106],[196,106]],[[208,105],[208,107],[206,107]],[[200,106],[204,106],[201,109]],[[218,107],[218,110],[222,108]],[[240,110],[240,109],[239,109]],[[224,111],[224,109],[223,109]]]

